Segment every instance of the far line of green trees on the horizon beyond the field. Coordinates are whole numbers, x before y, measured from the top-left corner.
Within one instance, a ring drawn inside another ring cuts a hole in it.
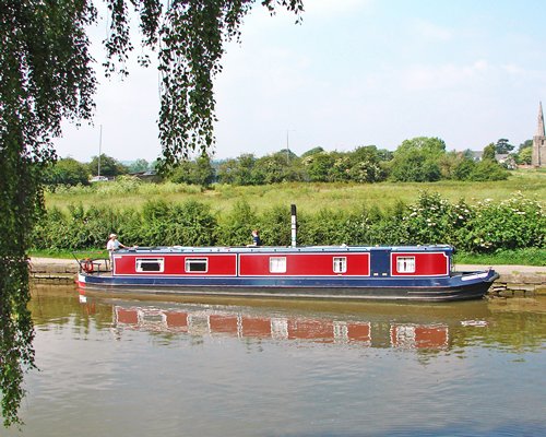
[[[257,157],[242,154],[237,158],[213,162],[207,155],[183,161],[173,166],[164,178],[173,182],[207,187],[213,182],[236,186],[259,186],[278,182],[380,182],[438,180],[502,180],[508,169],[531,164],[532,141],[520,144],[518,151],[506,139],[490,143],[476,154],[447,151],[438,138],[418,137],[405,140],[394,151],[376,145],[356,147],[352,152],[328,152],[314,147],[297,156],[290,150]],[[155,163],[136,160],[126,166],[115,158],[100,155],[100,175],[120,175],[153,172]],[[47,186],[90,184],[98,174],[99,160],[82,164],[73,158],[61,158],[45,172]]]

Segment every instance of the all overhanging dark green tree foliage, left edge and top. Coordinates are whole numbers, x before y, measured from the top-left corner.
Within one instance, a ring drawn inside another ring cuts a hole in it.
[[[224,44],[239,38],[256,0],[105,0],[108,73],[126,74],[132,49],[129,12],[162,72],[162,166],[214,142],[213,78]],[[299,14],[301,0],[263,0]],[[96,79],[86,28],[93,0],[0,0],[0,390],[5,426],[19,422],[23,373],[34,365],[26,251],[41,204],[40,172],[55,151],[61,120],[88,120]],[[147,59],[141,59],[147,63]]]

